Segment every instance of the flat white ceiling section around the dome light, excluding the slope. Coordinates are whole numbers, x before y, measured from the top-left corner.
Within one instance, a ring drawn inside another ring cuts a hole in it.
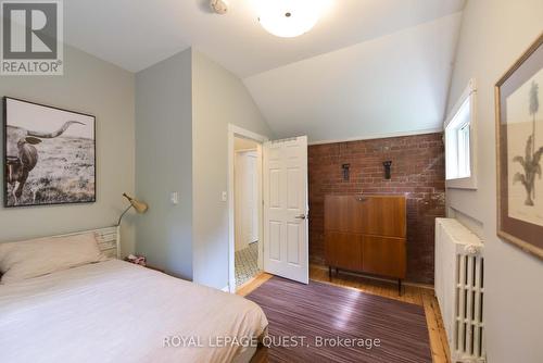
[[[258,25],[253,0],[227,1],[226,15],[210,0],[64,1],[65,40],[132,72],[192,46],[243,78],[457,12],[465,0],[333,0],[291,39]]]

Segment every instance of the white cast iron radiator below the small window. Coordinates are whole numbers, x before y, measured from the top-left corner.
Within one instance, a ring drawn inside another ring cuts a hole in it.
[[[484,259],[479,237],[453,218],[435,220],[435,295],[452,362],[485,362]]]

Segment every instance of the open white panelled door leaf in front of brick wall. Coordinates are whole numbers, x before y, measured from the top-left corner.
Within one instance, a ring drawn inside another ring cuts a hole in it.
[[[264,271],[310,281],[307,137],[264,143]]]

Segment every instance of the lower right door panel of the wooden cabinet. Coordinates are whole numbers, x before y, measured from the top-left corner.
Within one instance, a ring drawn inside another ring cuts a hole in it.
[[[362,264],[365,272],[405,278],[404,238],[364,236],[362,246]]]

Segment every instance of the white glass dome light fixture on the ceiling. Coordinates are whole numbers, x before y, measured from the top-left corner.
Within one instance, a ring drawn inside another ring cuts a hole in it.
[[[255,0],[258,21],[268,33],[282,38],[310,32],[330,0]]]

